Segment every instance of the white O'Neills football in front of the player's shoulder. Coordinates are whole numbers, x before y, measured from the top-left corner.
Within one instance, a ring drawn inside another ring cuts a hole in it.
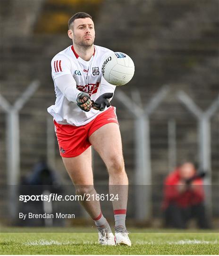
[[[115,52],[106,55],[102,75],[107,82],[120,86],[129,82],[135,73],[135,64],[126,54]]]

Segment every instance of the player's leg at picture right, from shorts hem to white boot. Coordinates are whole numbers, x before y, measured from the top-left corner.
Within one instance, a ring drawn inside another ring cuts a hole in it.
[[[131,246],[125,225],[128,178],[125,171],[118,124],[105,124],[93,132],[89,137],[89,141],[107,166],[109,193],[114,194],[114,196],[118,195],[118,200],[112,201],[115,216],[116,243]]]

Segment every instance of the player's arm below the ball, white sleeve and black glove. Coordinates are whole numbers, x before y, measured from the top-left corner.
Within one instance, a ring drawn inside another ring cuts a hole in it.
[[[109,108],[115,89],[116,86],[107,82],[102,76],[100,87],[101,96],[95,102],[93,101],[93,109],[102,111],[105,107]]]

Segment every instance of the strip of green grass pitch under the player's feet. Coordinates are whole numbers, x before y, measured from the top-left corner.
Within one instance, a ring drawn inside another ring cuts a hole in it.
[[[132,247],[106,247],[97,243],[97,233],[81,233],[93,229],[1,229],[1,254],[187,254],[218,255],[219,235],[200,231],[130,229]],[[7,231],[6,233],[3,233]],[[49,232],[47,232],[49,231]],[[53,233],[51,233],[53,231]],[[16,233],[15,233],[16,232]],[[20,233],[19,233],[20,232]],[[29,233],[31,232],[31,233]],[[34,233],[35,232],[35,233]],[[46,233],[47,232],[47,233]],[[76,233],[77,232],[77,233]],[[138,233],[137,233],[138,232]],[[140,233],[141,232],[141,233]],[[199,233],[198,233],[199,232]]]

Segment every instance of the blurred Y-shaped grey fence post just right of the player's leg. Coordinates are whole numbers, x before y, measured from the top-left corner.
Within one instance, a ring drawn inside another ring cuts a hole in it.
[[[132,99],[122,91],[115,94],[118,101],[132,113],[135,118],[135,218],[139,221],[149,220],[152,214],[152,170],[150,147],[151,113],[159,106],[169,91],[168,86],[152,98],[143,110],[139,91],[133,93]]]

